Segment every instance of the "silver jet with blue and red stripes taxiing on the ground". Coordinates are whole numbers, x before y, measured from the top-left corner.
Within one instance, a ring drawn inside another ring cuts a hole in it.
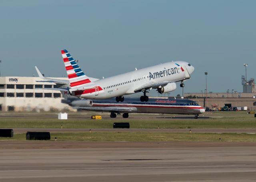
[[[65,96],[64,96],[65,98]],[[113,99],[88,100],[65,98],[62,103],[68,104],[76,109],[110,112],[110,117],[123,113],[123,117],[129,117],[129,113],[157,113],[157,114],[194,114],[198,118],[205,109],[193,100],[188,99],[164,99],[149,98],[148,102],[138,102],[136,99],[126,98],[123,103],[117,103]]]

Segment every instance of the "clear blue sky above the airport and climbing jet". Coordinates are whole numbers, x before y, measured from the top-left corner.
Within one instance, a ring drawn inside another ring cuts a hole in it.
[[[184,92],[204,90],[205,71],[208,91],[241,92],[244,63],[247,78],[256,78],[255,7],[255,0],[2,0],[1,76],[37,75],[34,66],[66,76],[60,50],[67,49],[91,77],[182,60],[195,67]]]

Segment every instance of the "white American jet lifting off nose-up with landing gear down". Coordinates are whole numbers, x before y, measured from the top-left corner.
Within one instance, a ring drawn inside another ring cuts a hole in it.
[[[147,90],[157,89],[159,93],[168,93],[176,89],[175,82],[181,82],[190,78],[194,67],[184,61],[172,61],[152,67],[136,69],[131,72],[97,79],[86,76],[66,49],[61,51],[64,65],[68,74],[68,80],[57,80],[44,77],[38,68],[36,71],[42,82],[57,84],[69,84],[70,88],[44,88],[50,90],[66,91],[72,96],[86,99],[116,98],[117,102],[124,101],[124,95],[143,92],[141,102],[148,102]]]

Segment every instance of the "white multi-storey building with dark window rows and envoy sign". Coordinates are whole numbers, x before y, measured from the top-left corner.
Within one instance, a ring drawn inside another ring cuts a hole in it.
[[[56,78],[67,79],[67,78]],[[72,110],[60,91],[37,88],[55,88],[56,84],[42,81],[39,77],[0,77],[0,111],[49,111]]]

